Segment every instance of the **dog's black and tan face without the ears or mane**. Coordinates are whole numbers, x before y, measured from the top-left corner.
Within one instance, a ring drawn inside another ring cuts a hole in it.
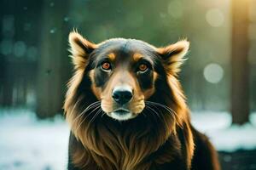
[[[102,110],[117,120],[137,116],[154,94],[154,48],[136,40],[116,39],[95,50],[91,88]]]

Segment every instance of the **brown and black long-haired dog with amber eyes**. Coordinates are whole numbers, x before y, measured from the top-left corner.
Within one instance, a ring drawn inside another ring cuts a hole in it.
[[[69,35],[75,73],[64,109],[69,170],[218,170],[207,137],[191,126],[177,73],[189,42],[164,48]]]

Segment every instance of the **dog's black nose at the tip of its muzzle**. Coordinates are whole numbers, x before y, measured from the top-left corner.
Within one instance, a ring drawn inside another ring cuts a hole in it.
[[[129,102],[132,98],[131,91],[128,90],[113,90],[112,98],[116,103],[119,105],[125,105],[127,102]]]

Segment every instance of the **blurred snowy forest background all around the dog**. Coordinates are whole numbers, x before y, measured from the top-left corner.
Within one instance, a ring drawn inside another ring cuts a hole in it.
[[[67,37],[187,37],[180,81],[223,169],[256,169],[256,1],[1,0],[0,169],[65,169]],[[54,149],[54,150],[53,150]],[[50,155],[50,156],[49,156]]]

